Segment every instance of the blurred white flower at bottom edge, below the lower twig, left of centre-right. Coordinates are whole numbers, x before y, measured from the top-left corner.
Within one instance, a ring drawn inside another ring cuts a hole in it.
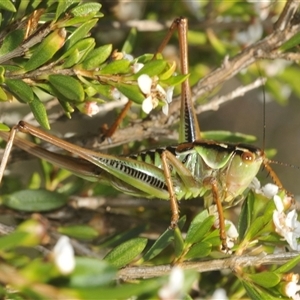
[[[182,296],[183,283],[183,270],[179,266],[173,267],[169,282],[158,291],[159,298],[162,300],[180,299]]]

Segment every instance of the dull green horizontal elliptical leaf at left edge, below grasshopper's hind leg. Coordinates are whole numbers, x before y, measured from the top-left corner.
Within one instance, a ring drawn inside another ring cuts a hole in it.
[[[68,201],[65,195],[47,190],[21,190],[0,198],[4,205],[9,208],[28,211],[42,212],[57,209]]]

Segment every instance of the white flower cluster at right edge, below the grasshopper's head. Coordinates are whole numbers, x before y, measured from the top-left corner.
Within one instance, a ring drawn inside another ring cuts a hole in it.
[[[284,212],[284,201],[278,195],[274,196],[276,210],[273,212],[273,223],[276,232],[281,235],[293,250],[300,251],[298,239],[300,238],[300,222],[297,220],[295,209],[287,214]]]

